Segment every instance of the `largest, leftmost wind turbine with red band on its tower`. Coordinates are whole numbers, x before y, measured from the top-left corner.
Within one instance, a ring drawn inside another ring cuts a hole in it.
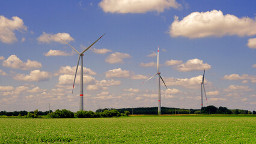
[[[105,34],[103,34],[105,35]],[[102,37],[103,37],[102,35]],[[100,38],[102,38],[100,37]],[[98,40],[100,40],[100,38]],[[61,38],[59,38],[61,39]],[[61,39],[62,40],[62,39]],[[94,41],[93,44],[95,44],[98,40]],[[63,40],[62,40],[63,41]],[[67,43],[69,44],[69,43]],[[91,44],[91,46],[93,46],[93,44]],[[70,46],[70,44],[69,44]],[[77,53],[78,53],[78,64],[76,65],[76,73],[78,72],[78,65],[79,65],[79,61],[81,59],[81,74],[80,74],[80,103],[79,103],[79,110],[84,110],[84,85],[83,85],[83,82],[84,82],[84,79],[83,79],[83,56],[84,56],[84,52],[86,52],[88,49],[90,49],[90,47],[87,47],[87,49],[83,50],[81,53],[78,52],[78,50],[76,50],[74,47],[72,47],[73,50],[75,50]],[[76,73],[75,73],[75,79],[74,79],[74,82],[73,82],[73,89],[72,89],[72,94],[73,94],[73,91],[74,91],[74,86],[75,86],[75,80],[76,80]]]

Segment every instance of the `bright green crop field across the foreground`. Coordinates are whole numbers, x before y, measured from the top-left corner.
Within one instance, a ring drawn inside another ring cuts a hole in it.
[[[0,143],[256,143],[256,117],[0,118]]]

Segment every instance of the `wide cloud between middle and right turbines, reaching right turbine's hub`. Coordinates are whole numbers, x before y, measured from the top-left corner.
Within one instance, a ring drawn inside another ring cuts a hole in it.
[[[180,79],[180,78],[174,78],[174,77],[164,77],[163,80],[165,80],[165,84],[167,86],[183,86],[185,88],[190,89],[198,89],[201,88],[200,83],[202,82],[203,76],[197,76],[197,77],[191,77],[190,79]],[[204,80],[204,83],[207,83],[207,85],[212,85],[212,83],[207,82],[207,80]]]

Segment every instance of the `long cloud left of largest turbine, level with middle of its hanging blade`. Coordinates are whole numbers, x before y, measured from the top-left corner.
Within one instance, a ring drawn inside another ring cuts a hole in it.
[[[47,71],[33,70],[29,73],[29,75],[17,74],[13,77],[13,79],[27,82],[40,82],[48,80],[50,77],[51,74]]]

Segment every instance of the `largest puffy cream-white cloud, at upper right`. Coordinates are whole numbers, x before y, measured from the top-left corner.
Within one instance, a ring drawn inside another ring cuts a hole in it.
[[[212,10],[207,12],[194,12],[178,20],[174,17],[174,22],[169,26],[171,37],[222,37],[224,35],[251,36],[256,34],[256,21],[249,17],[238,17],[226,14],[222,11]]]

